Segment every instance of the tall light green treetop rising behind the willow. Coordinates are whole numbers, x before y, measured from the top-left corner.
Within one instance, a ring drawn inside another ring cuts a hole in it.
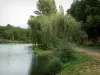
[[[35,14],[50,15],[56,12],[57,12],[57,9],[56,9],[54,0],[38,0],[37,11],[35,11]]]

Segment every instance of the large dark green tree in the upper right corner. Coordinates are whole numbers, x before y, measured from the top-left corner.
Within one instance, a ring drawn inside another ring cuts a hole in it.
[[[88,39],[94,43],[100,37],[100,1],[99,0],[81,0],[76,1],[68,10],[75,19],[82,22],[82,28],[88,35]]]

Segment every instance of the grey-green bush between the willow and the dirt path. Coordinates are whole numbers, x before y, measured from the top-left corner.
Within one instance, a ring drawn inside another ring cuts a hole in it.
[[[60,44],[54,50],[54,55],[58,57],[63,63],[74,59],[73,49],[71,44]]]

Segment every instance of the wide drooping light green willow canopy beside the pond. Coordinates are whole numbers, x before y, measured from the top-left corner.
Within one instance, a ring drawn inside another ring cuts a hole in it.
[[[79,22],[68,15],[31,17],[28,21],[32,29],[32,39],[38,46],[51,46],[65,39],[68,42],[78,43],[84,36]]]

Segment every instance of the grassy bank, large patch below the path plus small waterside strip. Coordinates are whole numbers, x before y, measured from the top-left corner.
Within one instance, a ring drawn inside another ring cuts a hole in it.
[[[52,51],[35,49],[39,55],[51,55]],[[63,63],[61,73],[57,75],[99,75],[100,61],[84,53],[75,52],[75,60]]]

